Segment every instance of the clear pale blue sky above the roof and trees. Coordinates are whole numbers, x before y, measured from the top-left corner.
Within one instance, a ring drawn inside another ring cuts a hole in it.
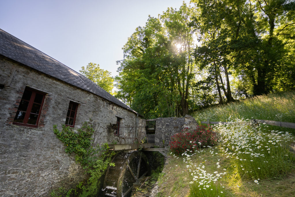
[[[0,0],[0,28],[75,71],[89,62],[117,75],[122,47],[150,14],[182,0]],[[189,3],[189,0],[185,0]]]

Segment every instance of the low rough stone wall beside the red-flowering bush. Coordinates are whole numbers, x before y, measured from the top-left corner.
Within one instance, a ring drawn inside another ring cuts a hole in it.
[[[157,118],[155,130],[155,145],[160,147],[168,147],[171,136],[176,133],[183,132],[184,128],[189,131],[194,130],[198,123],[194,117],[186,115],[183,118]],[[164,143],[163,143],[164,140]]]

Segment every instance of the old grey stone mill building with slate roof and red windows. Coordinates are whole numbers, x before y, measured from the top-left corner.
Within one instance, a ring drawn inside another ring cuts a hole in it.
[[[145,136],[145,120],[130,107],[0,29],[0,196],[46,196],[83,180],[53,125],[77,130],[90,120],[98,144]],[[110,123],[122,128],[108,129]]]

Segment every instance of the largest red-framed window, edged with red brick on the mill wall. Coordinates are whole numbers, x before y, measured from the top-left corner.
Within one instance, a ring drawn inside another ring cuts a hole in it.
[[[17,109],[13,124],[38,127],[45,93],[26,88]]]

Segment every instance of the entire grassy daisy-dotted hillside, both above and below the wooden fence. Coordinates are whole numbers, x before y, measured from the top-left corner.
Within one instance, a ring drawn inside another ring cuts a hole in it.
[[[289,150],[294,132],[249,120],[295,122],[294,109],[295,94],[287,92],[196,113],[199,121],[209,118],[228,123],[213,126],[217,143],[189,141],[182,154],[172,149],[158,178],[157,195],[295,196],[295,154]]]

